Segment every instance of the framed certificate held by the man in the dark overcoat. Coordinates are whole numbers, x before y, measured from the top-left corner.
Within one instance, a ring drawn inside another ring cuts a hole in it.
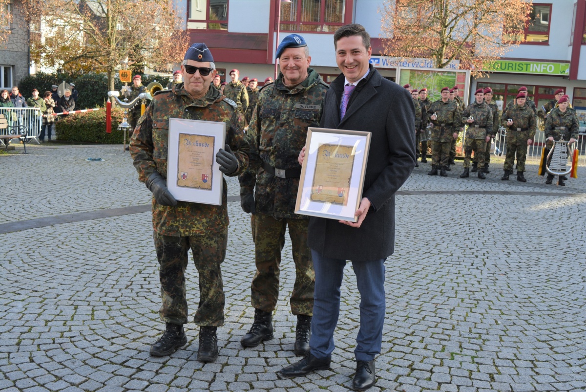
[[[356,222],[370,132],[310,127],[295,214]]]

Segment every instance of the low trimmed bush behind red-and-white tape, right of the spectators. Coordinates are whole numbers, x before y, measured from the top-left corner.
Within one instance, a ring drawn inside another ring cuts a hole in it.
[[[122,122],[122,110],[112,109],[112,133],[106,133],[106,111],[96,110],[87,113],[60,116],[55,129],[57,140],[77,143],[122,144],[123,133],[118,130]],[[126,141],[128,143],[128,139]]]

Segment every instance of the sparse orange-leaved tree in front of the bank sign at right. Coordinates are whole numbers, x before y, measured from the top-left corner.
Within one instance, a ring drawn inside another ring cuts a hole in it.
[[[386,0],[382,13],[384,55],[423,57],[443,68],[454,59],[472,75],[519,42],[530,0]]]

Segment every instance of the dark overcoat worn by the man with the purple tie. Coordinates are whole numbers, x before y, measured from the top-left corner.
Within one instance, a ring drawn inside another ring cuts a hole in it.
[[[370,65],[340,121],[344,79],[342,74],[330,85],[320,126],[372,132],[362,192],[372,207],[359,228],[311,217],[308,245],[328,258],[384,259],[394,251],[395,192],[415,167],[415,108],[407,89],[384,79]]]

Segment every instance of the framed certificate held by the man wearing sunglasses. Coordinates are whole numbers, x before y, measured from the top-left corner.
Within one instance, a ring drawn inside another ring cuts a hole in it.
[[[167,187],[176,200],[222,204],[216,153],[225,138],[226,123],[169,119]]]

